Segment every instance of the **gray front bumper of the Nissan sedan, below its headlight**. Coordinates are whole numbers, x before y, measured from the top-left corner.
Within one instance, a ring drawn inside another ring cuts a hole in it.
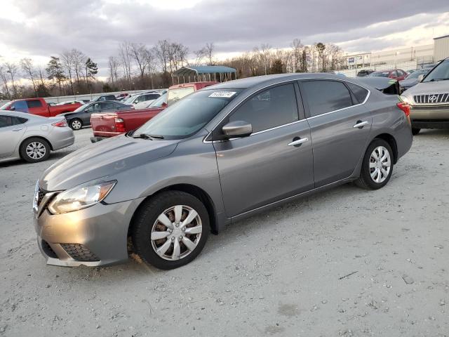
[[[128,227],[140,201],[99,203],[57,215],[41,211],[34,229],[47,264],[93,267],[126,261]]]

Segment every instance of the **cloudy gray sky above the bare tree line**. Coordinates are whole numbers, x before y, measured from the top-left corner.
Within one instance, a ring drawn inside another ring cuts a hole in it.
[[[47,62],[78,48],[105,67],[123,40],[214,42],[217,56],[260,44],[339,44],[345,52],[431,44],[449,34],[448,0],[0,0],[0,61]],[[102,70],[100,74],[105,74]]]

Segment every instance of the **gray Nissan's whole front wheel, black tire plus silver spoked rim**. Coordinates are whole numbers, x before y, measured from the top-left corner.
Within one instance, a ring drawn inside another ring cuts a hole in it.
[[[190,216],[192,210],[196,213]],[[180,219],[175,218],[176,212],[182,215]],[[182,224],[189,220],[189,216],[195,218]],[[163,270],[181,267],[194,260],[201,253],[210,232],[208,211],[204,204],[192,194],[181,191],[161,192],[144,201],[131,225],[134,252],[145,263]]]

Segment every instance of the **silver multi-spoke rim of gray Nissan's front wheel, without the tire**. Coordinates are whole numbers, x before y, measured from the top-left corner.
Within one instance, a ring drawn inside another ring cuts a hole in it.
[[[153,224],[152,247],[165,260],[180,260],[194,251],[202,232],[201,218],[192,207],[172,206]]]

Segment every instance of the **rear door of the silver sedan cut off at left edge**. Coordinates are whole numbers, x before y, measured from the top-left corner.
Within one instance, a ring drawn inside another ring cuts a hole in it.
[[[0,114],[0,158],[11,156],[18,147],[27,119]]]

